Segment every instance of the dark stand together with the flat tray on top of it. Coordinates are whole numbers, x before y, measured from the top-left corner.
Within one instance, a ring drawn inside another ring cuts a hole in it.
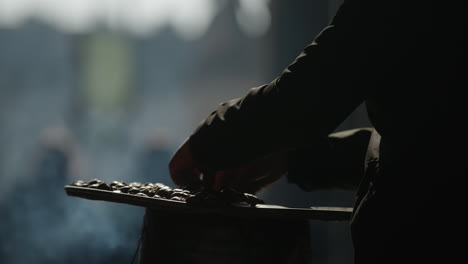
[[[102,183],[105,184],[105,183]],[[271,204],[199,206],[120,190],[66,185],[70,196],[146,208],[134,262],[309,263],[309,220],[348,221],[352,208]]]

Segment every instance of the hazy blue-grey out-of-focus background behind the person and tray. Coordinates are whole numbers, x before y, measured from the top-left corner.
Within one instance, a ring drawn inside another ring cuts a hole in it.
[[[161,182],[219,103],[270,82],[342,0],[0,0],[0,263],[130,263],[144,208],[75,180]],[[363,106],[337,130],[369,126]],[[282,180],[268,203],[352,206]],[[352,263],[348,223],[311,221],[313,263]]]

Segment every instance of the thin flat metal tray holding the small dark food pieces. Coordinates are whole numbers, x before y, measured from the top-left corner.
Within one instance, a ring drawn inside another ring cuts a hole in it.
[[[224,206],[192,205],[185,201],[174,201],[164,198],[143,197],[128,193],[115,193],[112,191],[77,187],[66,185],[65,191],[69,196],[89,200],[123,203],[134,206],[151,208],[155,211],[181,214],[218,214],[225,216],[247,218],[275,218],[275,219],[309,219],[322,221],[348,221],[353,212],[349,207],[309,207],[291,208],[271,204],[231,204]]]

